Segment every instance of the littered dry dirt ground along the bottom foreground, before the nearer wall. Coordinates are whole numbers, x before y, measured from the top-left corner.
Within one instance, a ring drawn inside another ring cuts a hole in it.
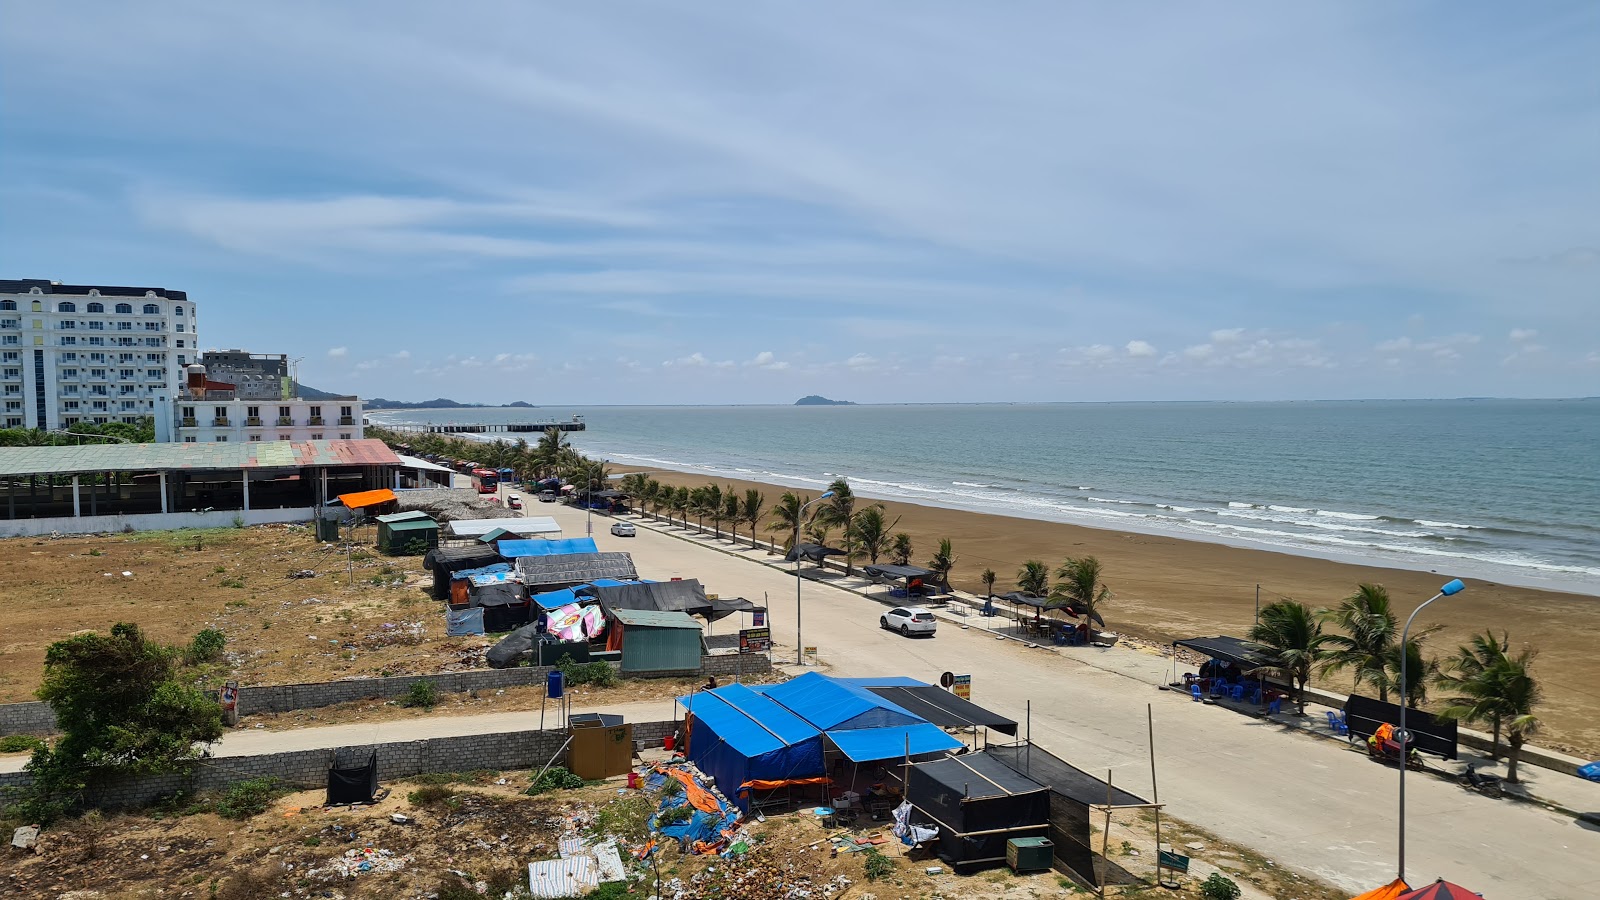
[[[931,854],[907,854],[893,839],[878,844],[893,870],[867,881],[867,855],[835,855],[829,838],[854,842],[882,836],[886,823],[824,830],[810,812],[749,822],[742,838],[750,852],[741,858],[680,855],[666,841],[650,866],[637,863],[634,850],[648,839],[646,820],[656,798],[627,790],[622,778],[528,798],[522,791],[530,777],[475,772],[416,778],[387,785],[389,794],[376,806],[354,809],[318,807],[322,791],[302,791],[242,822],[205,810],[203,798],[179,798],[165,809],[134,815],[90,815],[48,828],[37,852],[6,849],[0,855],[0,894],[19,900],[456,900],[488,890],[499,897],[526,884],[528,862],[554,858],[558,841],[571,836],[616,839],[632,879],[626,895],[632,897],[654,897],[658,874],[661,897],[674,900],[1022,900],[1091,894],[1083,882],[1054,871],[1019,876],[995,868],[957,876]],[[394,822],[395,814],[408,822]],[[1096,850],[1099,834],[1096,830]],[[1176,890],[1154,886],[1152,817],[1117,814],[1109,842],[1117,882],[1107,895],[1195,898],[1198,882],[1216,866],[1240,884],[1246,900],[1344,897],[1182,823],[1163,823],[1163,841],[1197,862]],[[370,870],[363,871],[360,862],[368,862]],[[939,871],[930,874],[934,868]]]

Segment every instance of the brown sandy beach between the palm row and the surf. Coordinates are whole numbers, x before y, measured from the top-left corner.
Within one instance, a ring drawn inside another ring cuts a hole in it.
[[[672,485],[707,484],[701,474],[651,469],[651,476]],[[741,493],[752,487],[762,490],[768,508],[784,490],[790,490],[731,479],[717,479],[715,484],[733,485]],[[862,500],[858,508],[861,503],[878,501]],[[926,562],[939,538],[954,541],[957,560],[950,581],[958,589],[981,594],[984,569],[995,570],[995,591],[1005,593],[1014,589],[1016,570],[1027,559],[1042,559],[1054,569],[1067,556],[1099,557],[1106,583],[1115,594],[1106,610],[1107,626],[1152,639],[1243,636],[1254,617],[1258,585],[1262,605],[1293,597],[1317,609],[1336,605],[1355,585],[1371,581],[1386,586],[1402,615],[1410,615],[1454,577],[1443,570],[1352,565],[1059,522],[882,503],[890,520],[899,519],[894,530],[912,536],[912,562]],[[749,527],[741,528],[747,538]],[[771,535],[763,530],[760,536]],[[1600,597],[1470,578],[1464,581],[1466,593],[1434,604],[1418,620],[1419,629],[1442,626],[1427,637],[1426,652],[1451,655],[1461,641],[1486,628],[1509,633],[1514,649],[1525,644],[1536,647],[1539,658],[1534,671],[1544,685],[1539,716],[1546,727],[1534,743],[1600,757],[1600,660],[1594,653],[1594,636],[1600,633]],[[1325,685],[1347,687],[1338,682]]]

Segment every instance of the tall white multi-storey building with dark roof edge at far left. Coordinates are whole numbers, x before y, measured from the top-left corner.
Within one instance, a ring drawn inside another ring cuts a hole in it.
[[[198,356],[195,323],[178,290],[0,279],[0,423],[58,431],[155,416],[162,431]]]

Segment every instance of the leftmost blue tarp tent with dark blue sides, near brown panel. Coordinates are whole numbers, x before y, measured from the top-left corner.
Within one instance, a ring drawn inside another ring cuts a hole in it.
[[[693,725],[688,754],[723,796],[749,810],[739,785],[824,773],[822,735],[770,698],[739,684],[680,697]]]

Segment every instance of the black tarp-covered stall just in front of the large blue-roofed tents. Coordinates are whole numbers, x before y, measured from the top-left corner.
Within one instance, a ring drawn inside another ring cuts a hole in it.
[[[1011,838],[1045,838],[1050,791],[986,753],[910,767],[906,799],[939,828],[939,858],[955,871],[1005,862]]]

